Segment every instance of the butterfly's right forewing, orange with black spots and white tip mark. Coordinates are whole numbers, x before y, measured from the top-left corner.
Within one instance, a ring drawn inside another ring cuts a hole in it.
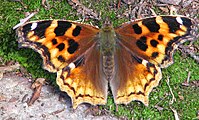
[[[136,56],[167,67],[178,43],[190,35],[192,21],[183,16],[157,16],[128,22],[115,29],[119,41]]]

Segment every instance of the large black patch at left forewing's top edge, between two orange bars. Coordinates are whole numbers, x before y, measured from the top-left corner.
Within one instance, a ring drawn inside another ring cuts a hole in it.
[[[70,22],[58,21],[58,26],[55,28],[54,32],[56,36],[63,36],[71,26],[72,24]]]

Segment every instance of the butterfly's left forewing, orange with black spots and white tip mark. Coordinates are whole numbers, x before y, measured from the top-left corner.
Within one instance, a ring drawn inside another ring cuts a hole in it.
[[[44,68],[56,72],[83,55],[98,32],[96,27],[71,21],[35,21],[18,29],[18,42],[39,52]]]

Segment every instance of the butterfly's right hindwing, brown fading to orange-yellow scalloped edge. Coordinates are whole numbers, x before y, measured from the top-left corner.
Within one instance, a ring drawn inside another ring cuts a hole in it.
[[[160,67],[132,54],[124,46],[116,49],[116,59],[116,75],[110,81],[115,103],[138,100],[148,105],[149,93],[162,78]]]

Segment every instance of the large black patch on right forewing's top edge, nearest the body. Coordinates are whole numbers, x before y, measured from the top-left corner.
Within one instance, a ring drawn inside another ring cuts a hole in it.
[[[142,24],[145,25],[150,32],[158,32],[160,29],[160,25],[156,22],[155,17],[144,19]]]

